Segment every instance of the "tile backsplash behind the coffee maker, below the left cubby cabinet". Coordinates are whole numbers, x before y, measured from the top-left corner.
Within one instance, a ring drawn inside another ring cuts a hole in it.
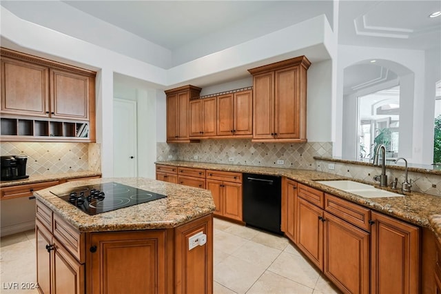
[[[0,154],[28,155],[27,175],[89,170],[88,143],[1,142]],[[99,164],[101,166],[101,163]]]

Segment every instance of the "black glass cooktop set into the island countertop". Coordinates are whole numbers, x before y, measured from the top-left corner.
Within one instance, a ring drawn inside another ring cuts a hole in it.
[[[105,213],[167,197],[116,182],[70,188],[62,193],[52,191],[50,193],[83,210],[88,215]]]

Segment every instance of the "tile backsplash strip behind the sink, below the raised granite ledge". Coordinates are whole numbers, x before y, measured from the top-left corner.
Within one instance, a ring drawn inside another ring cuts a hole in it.
[[[361,179],[364,182],[371,184],[378,184],[373,180],[373,177],[381,174],[381,167],[378,166],[365,166],[349,163],[331,162],[334,164],[335,169],[329,170],[328,164],[330,161],[317,160],[317,170],[325,173],[332,173],[335,175],[341,175],[344,177],[351,177],[353,179]],[[404,182],[404,170],[387,169],[386,174],[389,182],[393,179],[398,179],[398,189],[401,189],[401,183]],[[409,172],[408,179],[412,179],[411,190],[430,194],[435,196],[441,196],[441,176]]]

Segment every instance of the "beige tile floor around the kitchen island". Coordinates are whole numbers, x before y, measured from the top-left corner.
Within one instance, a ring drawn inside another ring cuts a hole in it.
[[[1,238],[0,293],[38,293],[22,287],[35,282],[35,267],[34,231]],[[214,219],[214,293],[339,291],[284,237]]]

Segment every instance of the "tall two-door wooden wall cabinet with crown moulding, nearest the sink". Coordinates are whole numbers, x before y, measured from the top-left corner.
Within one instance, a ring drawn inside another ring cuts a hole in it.
[[[253,141],[306,138],[307,69],[305,56],[248,70],[253,75]]]

